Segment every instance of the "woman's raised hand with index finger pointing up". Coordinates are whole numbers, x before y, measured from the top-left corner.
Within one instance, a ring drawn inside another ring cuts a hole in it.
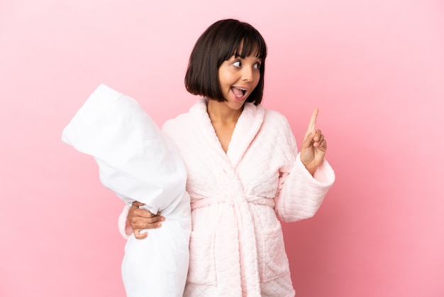
[[[322,163],[327,151],[326,139],[321,133],[321,130],[315,129],[318,112],[319,110],[317,108],[313,110],[309,128],[305,133],[304,142],[301,147],[301,161],[311,175],[316,171],[319,164]]]

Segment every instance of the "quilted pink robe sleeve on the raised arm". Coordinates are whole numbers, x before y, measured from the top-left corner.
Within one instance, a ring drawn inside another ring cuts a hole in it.
[[[297,152],[296,141],[287,119],[282,124],[286,139],[284,155],[286,164],[279,177],[277,197],[274,198],[275,211],[284,222],[296,222],[313,217],[323,202],[328,189],[333,185],[335,173],[324,159],[313,176],[306,170]]]

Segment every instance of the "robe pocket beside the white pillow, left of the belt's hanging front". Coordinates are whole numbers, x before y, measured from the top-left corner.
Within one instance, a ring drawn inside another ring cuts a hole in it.
[[[189,238],[189,269],[187,282],[216,286],[214,234],[194,232]]]

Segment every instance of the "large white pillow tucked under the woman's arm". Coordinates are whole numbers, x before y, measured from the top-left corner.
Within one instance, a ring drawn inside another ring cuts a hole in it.
[[[145,203],[165,222],[146,239],[131,236],[122,277],[127,296],[182,296],[191,232],[187,169],[177,148],[134,99],[99,85],[62,132],[94,156],[101,183],[128,205]]]

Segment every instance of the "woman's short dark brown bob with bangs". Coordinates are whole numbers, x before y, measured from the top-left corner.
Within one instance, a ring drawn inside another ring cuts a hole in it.
[[[242,53],[238,53],[239,48]],[[196,41],[185,75],[187,91],[218,102],[226,101],[219,85],[218,69],[223,61],[233,55],[240,58],[254,55],[262,60],[259,82],[247,98],[247,102],[260,104],[264,91],[267,45],[253,26],[233,19],[216,21]]]

